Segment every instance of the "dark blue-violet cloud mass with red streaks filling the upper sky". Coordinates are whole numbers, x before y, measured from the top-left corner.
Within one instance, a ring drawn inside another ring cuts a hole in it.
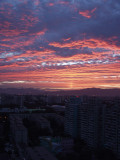
[[[0,8],[1,55],[4,51],[23,54],[31,50],[34,53],[42,51],[40,47],[52,49],[61,57],[110,50],[104,46],[93,50],[89,46],[78,49],[49,46],[51,42],[64,42],[67,38],[71,41],[94,38],[109,45],[114,41],[114,45],[120,47],[120,3],[117,0],[6,0],[1,1]]]

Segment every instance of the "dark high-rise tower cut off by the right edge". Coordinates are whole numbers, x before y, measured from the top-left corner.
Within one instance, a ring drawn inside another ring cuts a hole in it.
[[[104,107],[104,146],[120,156],[120,101],[106,101]]]

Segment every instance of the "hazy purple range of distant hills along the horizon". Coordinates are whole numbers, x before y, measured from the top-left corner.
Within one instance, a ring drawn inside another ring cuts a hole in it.
[[[81,90],[39,90],[33,88],[0,88],[0,94],[48,94],[48,95],[89,95],[89,96],[120,96],[120,89],[87,88]]]

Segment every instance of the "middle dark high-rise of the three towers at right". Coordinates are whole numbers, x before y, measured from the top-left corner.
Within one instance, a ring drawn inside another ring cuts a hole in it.
[[[102,107],[100,100],[95,97],[83,100],[79,107],[79,135],[91,148],[102,144]]]

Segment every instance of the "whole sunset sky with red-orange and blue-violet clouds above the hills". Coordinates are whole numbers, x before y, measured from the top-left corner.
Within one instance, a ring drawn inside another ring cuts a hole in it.
[[[120,88],[119,0],[0,0],[0,88]]]

